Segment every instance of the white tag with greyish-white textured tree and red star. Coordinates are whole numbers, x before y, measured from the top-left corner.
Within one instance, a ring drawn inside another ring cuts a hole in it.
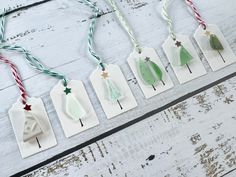
[[[25,111],[20,100],[9,110],[9,117],[22,158],[57,145],[42,100],[28,98],[27,102],[31,105],[31,111]],[[36,138],[28,141],[32,135]]]

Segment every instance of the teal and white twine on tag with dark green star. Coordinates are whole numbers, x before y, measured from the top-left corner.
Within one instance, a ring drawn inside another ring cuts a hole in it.
[[[20,52],[24,55],[25,59],[28,61],[28,63],[30,64],[30,66],[32,66],[35,70],[38,70],[44,74],[47,74],[49,76],[58,78],[63,80],[63,84],[64,86],[67,86],[67,79],[64,75],[59,74],[57,72],[52,71],[51,69],[47,68],[46,66],[44,66],[42,64],[42,62],[36,58],[35,56],[33,56],[28,50],[24,49],[23,47],[19,46],[19,45],[8,45],[4,42],[4,32],[5,32],[5,10],[4,10],[4,14],[2,14],[1,16],[1,21],[0,21],[0,49],[4,49],[4,50],[9,50],[9,51],[17,51]]]

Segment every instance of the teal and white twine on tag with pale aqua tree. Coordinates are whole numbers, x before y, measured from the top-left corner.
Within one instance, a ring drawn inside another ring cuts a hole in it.
[[[92,21],[89,25],[88,30],[88,50],[90,55],[95,59],[95,62],[101,67],[101,69],[105,70],[105,64],[103,63],[101,57],[95,52],[94,50],[94,31],[96,26],[96,21],[99,16],[101,16],[102,11],[96,6],[95,3],[92,3],[90,0],[78,0],[78,2],[85,4],[86,6],[90,7],[92,9],[92,12],[94,13],[92,16]]]

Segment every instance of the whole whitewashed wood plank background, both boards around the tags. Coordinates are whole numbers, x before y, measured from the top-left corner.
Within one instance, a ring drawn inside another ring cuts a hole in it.
[[[0,0],[0,2],[1,10],[6,8],[14,11],[8,16],[7,41],[25,46],[40,57],[46,65],[65,73],[69,78],[83,80],[100,121],[99,126],[66,139],[49,98],[49,91],[57,80],[32,70],[19,54],[1,51],[19,66],[30,95],[42,97],[58,140],[55,148],[25,160],[21,158],[7,115],[7,110],[18,98],[18,92],[8,68],[0,64],[1,164],[4,159],[4,164],[0,167],[2,176],[12,175],[36,165],[235,71],[236,64],[212,72],[195,45],[208,74],[180,85],[173,70],[167,67],[175,83],[174,89],[149,100],[144,99],[126,62],[133,50],[132,45],[117,23],[111,8],[105,1],[98,1],[97,5],[106,14],[99,18],[97,24],[95,35],[97,51],[105,61],[122,67],[139,104],[136,109],[107,120],[87,80],[94,69],[87,54],[86,34],[91,16],[90,9],[74,0]],[[166,26],[159,13],[161,1],[122,0],[117,3],[134,28],[141,45],[155,48],[163,64],[168,66],[161,50],[161,44],[167,38]],[[236,53],[236,31],[234,30],[236,29],[236,2],[199,0],[196,4],[207,22],[220,27]],[[173,2],[171,15],[175,20],[176,31],[187,35],[193,34],[197,24],[183,0]],[[94,142],[30,175],[192,177],[227,174],[235,168],[236,130],[233,118],[235,103],[231,101],[235,97],[235,81],[233,77],[219,86]],[[218,137],[219,141],[216,139]],[[196,142],[192,142],[195,139]],[[199,152],[196,152],[197,150]]]

